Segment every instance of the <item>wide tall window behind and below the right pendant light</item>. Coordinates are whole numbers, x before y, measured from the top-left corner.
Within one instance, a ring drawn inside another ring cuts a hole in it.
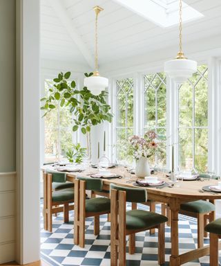
[[[208,67],[180,86],[178,91],[179,164],[205,171],[208,163]]]

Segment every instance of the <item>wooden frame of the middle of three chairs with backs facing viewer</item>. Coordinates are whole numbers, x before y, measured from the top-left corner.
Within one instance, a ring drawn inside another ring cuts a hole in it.
[[[85,219],[94,216],[94,234],[99,235],[99,215],[111,213],[102,211],[86,213],[86,181],[75,179],[75,218],[74,218],[74,243],[79,247],[85,245]],[[94,197],[93,193],[92,196]]]

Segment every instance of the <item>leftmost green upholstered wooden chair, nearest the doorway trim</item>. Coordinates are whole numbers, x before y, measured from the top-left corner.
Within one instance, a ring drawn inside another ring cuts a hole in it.
[[[52,214],[64,211],[64,222],[69,222],[69,211],[74,209],[74,188],[55,190],[53,184],[65,184],[66,174],[63,172],[44,172],[44,229],[52,231]],[[70,205],[71,204],[71,205]]]

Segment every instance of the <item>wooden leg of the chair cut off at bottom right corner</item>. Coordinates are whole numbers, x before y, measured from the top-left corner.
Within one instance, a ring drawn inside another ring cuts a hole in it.
[[[218,266],[219,265],[219,239],[221,235],[216,235],[215,233],[209,233],[210,246],[209,246],[209,265]]]

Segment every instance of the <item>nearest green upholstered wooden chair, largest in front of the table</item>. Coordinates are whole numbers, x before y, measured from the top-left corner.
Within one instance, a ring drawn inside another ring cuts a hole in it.
[[[142,188],[126,188],[111,184],[111,266],[126,265],[126,236],[129,236],[129,253],[135,252],[135,233],[158,229],[158,263],[165,262],[164,215],[151,211],[137,210],[137,203],[147,201]],[[126,202],[132,203],[132,210],[126,211]],[[117,258],[119,264],[117,264]]]

